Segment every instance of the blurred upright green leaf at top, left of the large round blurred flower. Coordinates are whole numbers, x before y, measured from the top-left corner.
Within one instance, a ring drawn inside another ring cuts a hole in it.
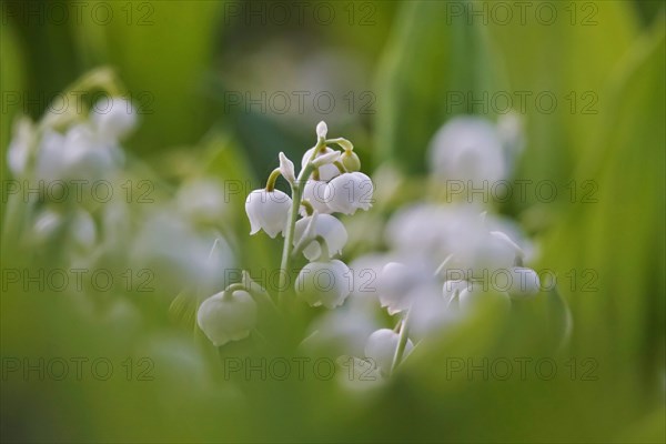
[[[457,2],[460,6],[467,1]],[[503,84],[485,27],[452,20],[445,1],[405,2],[379,69],[375,164],[425,170],[435,131],[453,114],[451,93],[494,91]]]

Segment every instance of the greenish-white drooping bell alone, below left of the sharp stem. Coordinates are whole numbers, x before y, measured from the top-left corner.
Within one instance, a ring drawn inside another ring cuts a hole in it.
[[[240,341],[256,324],[256,303],[246,291],[224,291],[203,301],[196,323],[215,346]]]

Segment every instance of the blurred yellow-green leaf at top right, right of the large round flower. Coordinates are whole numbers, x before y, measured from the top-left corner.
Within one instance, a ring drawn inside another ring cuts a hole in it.
[[[614,112],[604,85],[636,37],[634,12],[626,1],[536,1],[524,23],[517,16],[507,24],[488,22],[511,80],[507,92],[526,120],[527,147],[516,178],[554,181],[566,198],[574,161],[596,149],[592,138]],[[521,205],[537,200],[527,193]]]

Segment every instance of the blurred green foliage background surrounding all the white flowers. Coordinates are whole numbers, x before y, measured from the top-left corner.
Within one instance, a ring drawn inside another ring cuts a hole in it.
[[[202,172],[258,188],[279,151],[300,159],[320,120],[354,141],[364,170],[390,164],[417,188],[434,132],[457,114],[495,120],[508,94],[526,140],[514,179],[561,188],[552,202],[527,194],[498,210],[538,242],[539,265],[594,279],[594,291],[558,289],[574,325],[564,351],[542,332],[542,301],[500,330],[471,323],[373,395],[317,379],[230,384],[169,302],[140,302],[139,322],[3,289],[2,441],[664,442],[663,2],[533,1],[524,20],[501,3],[511,19],[467,1],[2,1],[3,180],[14,119],[38,119],[100,65],[139,104],[125,148],[165,190]],[[555,107],[536,100],[544,92]],[[458,101],[468,93],[490,99]],[[594,201],[569,199],[571,181],[592,183]],[[262,266],[280,245],[248,240],[243,200],[230,202],[239,262]],[[2,268],[21,254],[3,246]],[[447,356],[555,353],[548,381],[443,377]],[[27,381],[6,373],[17,356],[107,356],[117,372],[150,356],[154,379]],[[572,357],[578,372],[593,360],[595,377],[569,377]]]

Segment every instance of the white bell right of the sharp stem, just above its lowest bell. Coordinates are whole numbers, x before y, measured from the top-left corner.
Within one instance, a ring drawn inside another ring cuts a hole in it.
[[[305,229],[311,223],[312,218],[313,216],[306,216],[296,222],[296,226],[294,229],[294,245],[301,242],[303,234],[305,234]],[[342,248],[347,241],[347,233],[344,224],[331,214],[317,214],[313,222],[313,228],[310,234],[311,239],[314,239],[319,235],[324,238],[331,258],[333,258],[335,254],[342,253]],[[320,246],[319,242],[315,241],[311,242],[310,245],[303,250],[303,255],[310,261],[317,260],[321,254],[322,248]],[[326,260],[330,258],[322,259]]]

